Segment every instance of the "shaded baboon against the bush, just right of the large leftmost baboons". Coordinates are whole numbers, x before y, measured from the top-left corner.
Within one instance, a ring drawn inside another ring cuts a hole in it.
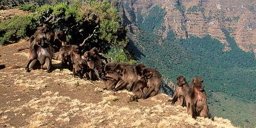
[[[54,36],[54,49],[55,51],[59,51],[61,46],[67,45],[67,37],[64,31],[57,31],[57,33]]]

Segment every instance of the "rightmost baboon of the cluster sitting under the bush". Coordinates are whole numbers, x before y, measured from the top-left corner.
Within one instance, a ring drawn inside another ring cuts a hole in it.
[[[103,73],[103,66],[102,66],[100,57],[98,56],[93,57],[90,51],[86,51],[83,55],[83,59],[87,61],[87,65],[89,66],[89,68],[94,70],[94,73],[92,70],[90,71],[90,77],[96,74],[97,75],[96,79],[101,78]]]

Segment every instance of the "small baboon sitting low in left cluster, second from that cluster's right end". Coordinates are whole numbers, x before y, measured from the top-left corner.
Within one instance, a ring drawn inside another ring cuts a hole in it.
[[[73,62],[73,74],[75,76],[79,76],[80,78],[85,77],[85,79],[89,80],[89,67],[85,60],[79,58],[74,60]]]

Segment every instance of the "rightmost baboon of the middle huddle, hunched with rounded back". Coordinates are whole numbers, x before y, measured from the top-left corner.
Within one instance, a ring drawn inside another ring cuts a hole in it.
[[[147,87],[144,87],[142,99],[147,99],[149,97],[153,97],[158,94],[160,87],[162,85],[162,79],[159,72],[153,68],[143,68],[142,77],[145,77],[147,80]]]

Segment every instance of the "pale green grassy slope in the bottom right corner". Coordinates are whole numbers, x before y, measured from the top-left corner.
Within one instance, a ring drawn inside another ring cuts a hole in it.
[[[256,126],[256,105],[253,102],[214,92],[208,106],[213,116],[230,119],[233,124],[241,127]]]

